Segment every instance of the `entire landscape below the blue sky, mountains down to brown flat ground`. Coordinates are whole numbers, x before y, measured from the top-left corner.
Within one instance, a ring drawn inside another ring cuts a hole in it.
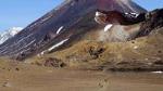
[[[64,0],[21,29],[0,35],[0,91],[163,91],[163,9]]]

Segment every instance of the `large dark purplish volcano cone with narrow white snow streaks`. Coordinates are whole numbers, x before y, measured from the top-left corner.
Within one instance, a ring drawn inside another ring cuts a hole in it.
[[[45,53],[48,49],[50,51],[55,51],[58,48],[63,49],[80,39],[92,40],[97,38],[92,34],[96,31],[104,34],[105,31],[103,25],[95,22],[97,10],[137,14],[147,12],[131,0],[65,0],[61,5],[1,44],[0,55],[24,60],[38,53]],[[120,31],[116,30],[118,35],[125,34],[120,38],[128,36],[128,32],[124,31],[128,28],[114,27],[114,29],[117,28],[121,28]]]

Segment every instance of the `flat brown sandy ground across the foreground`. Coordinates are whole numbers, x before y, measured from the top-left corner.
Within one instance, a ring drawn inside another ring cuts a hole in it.
[[[0,63],[0,91],[162,91],[163,74],[54,69]]]

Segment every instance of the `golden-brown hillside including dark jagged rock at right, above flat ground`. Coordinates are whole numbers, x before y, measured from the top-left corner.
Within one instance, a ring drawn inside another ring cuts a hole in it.
[[[149,34],[148,36],[126,42],[82,40],[68,49],[35,56],[26,62],[43,66],[84,69],[163,70],[163,9],[149,12],[147,17],[140,25],[137,37],[145,34]],[[118,26],[118,29],[120,27],[125,28],[125,26]]]

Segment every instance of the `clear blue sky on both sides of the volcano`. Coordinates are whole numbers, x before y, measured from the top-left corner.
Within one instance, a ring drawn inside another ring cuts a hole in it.
[[[63,0],[0,0],[0,31],[26,27]],[[134,0],[147,10],[163,8],[163,0]]]

